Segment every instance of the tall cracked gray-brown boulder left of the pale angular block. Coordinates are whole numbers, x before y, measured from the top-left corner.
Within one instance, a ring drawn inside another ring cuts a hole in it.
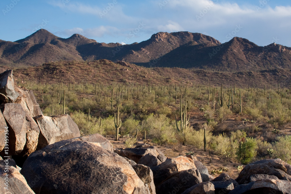
[[[36,150],[40,130],[20,104],[7,103],[1,111],[9,129],[9,154],[28,156]]]

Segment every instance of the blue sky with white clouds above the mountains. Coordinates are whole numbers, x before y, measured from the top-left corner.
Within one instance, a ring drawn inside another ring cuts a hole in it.
[[[131,44],[160,31],[189,31],[220,42],[237,36],[259,46],[291,47],[290,5],[287,0],[1,0],[0,39],[16,41],[43,28],[61,38],[79,33],[97,42]]]

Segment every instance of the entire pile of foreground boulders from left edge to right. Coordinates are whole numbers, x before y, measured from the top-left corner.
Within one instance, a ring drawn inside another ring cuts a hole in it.
[[[195,156],[167,158],[146,144],[113,150],[100,134],[79,137],[69,115],[42,115],[11,70],[0,74],[0,102],[0,193],[291,194],[291,165],[281,159],[246,165],[235,180],[214,178]]]

